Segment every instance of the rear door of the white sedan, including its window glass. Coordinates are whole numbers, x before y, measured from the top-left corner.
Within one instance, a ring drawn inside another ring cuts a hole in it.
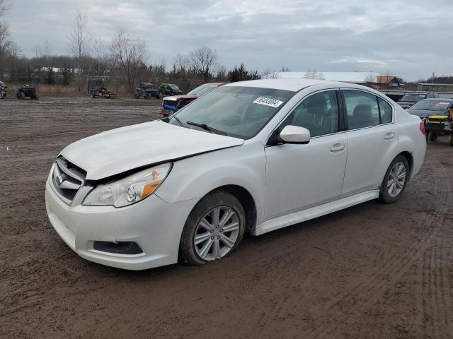
[[[393,107],[362,90],[341,90],[348,161],[342,196],[379,189],[398,144]]]

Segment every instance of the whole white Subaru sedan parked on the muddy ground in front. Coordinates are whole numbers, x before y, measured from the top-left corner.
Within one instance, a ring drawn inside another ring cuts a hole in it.
[[[80,256],[140,270],[200,265],[258,235],[379,198],[425,156],[423,121],[361,85],[230,83],[173,116],[62,150],[50,222]]]

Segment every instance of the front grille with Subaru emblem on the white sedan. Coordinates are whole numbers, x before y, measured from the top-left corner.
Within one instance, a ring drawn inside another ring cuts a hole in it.
[[[84,169],[58,157],[52,170],[52,189],[64,203],[71,205],[77,191],[84,186],[85,177]]]

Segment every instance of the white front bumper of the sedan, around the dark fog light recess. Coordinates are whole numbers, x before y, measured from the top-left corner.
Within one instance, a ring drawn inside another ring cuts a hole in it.
[[[89,261],[143,270],[178,261],[180,235],[196,201],[166,203],[153,194],[123,208],[67,206],[46,183],[47,215],[64,242]],[[73,205],[74,205],[73,203]],[[142,254],[113,254],[93,249],[95,241],[136,242]]]

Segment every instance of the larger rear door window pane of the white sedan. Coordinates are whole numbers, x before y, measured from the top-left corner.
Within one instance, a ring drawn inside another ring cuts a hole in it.
[[[379,125],[377,97],[359,90],[343,90],[349,129]]]

